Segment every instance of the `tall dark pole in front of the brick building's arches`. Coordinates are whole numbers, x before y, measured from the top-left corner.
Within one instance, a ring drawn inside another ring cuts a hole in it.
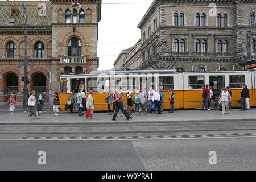
[[[28,101],[28,88],[27,88],[27,10],[24,5],[22,5],[24,9],[25,14],[25,57],[24,57],[24,88],[23,88],[23,107],[28,107],[27,101]]]

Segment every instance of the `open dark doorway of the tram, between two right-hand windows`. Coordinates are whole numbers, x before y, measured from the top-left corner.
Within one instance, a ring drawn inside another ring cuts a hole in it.
[[[218,96],[221,92],[221,89],[224,88],[224,76],[210,76],[210,86],[213,88],[213,96]]]

